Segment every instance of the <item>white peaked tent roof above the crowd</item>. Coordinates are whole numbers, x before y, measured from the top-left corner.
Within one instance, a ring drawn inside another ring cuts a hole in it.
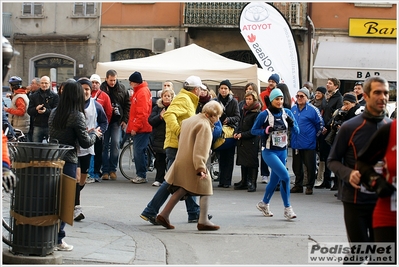
[[[129,79],[134,71],[139,71],[147,81],[184,82],[187,77],[195,75],[210,85],[225,79],[236,86],[258,82],[255,64],[228,59],[196,44],[145,58],[98,62],[96,73],[104,79],[110,69],[116,70],[118,79]]]

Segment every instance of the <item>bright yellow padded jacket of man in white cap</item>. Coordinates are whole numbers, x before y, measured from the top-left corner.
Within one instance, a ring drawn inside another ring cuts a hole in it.
[[[163,115],[166,123],[164,149],[178,147],[181,123],[195,115],[198,100],[198,96],[185,89],[181,89],[173,98],[172,103]]]

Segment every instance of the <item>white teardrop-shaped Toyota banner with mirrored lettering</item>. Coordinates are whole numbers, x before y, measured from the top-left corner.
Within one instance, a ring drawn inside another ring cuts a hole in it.
[[[278,73],[291,94],[301,88],[297,46],[290,25],[275,7],[251,2],[240,18],[241,34],[263,69]]]

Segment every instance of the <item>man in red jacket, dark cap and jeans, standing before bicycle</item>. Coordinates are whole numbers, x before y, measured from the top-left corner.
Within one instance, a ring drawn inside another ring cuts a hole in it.
[[[134,163],[137,175],[131,181],[135,184],[141,184],[148,182],[146,149],[152,131],[152,126],[148,122],[148,117],[150,117],[152,110],[152,95],[147,82],[143,81],[140,72],[135,71],[130,75],[129,82],[134,93],[130,99],[131,106],[126,134],[130,134],[133,137]]]

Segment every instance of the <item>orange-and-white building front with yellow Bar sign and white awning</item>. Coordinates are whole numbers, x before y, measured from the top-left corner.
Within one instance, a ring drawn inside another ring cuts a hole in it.
[[[313,22],[308,37],[314,51],[309,64],[314,84],[338,78],[345,93],[355,82],[380,75],[390,82],[391,100],[396,100],[397,5],[314,2],[308,11]]]

